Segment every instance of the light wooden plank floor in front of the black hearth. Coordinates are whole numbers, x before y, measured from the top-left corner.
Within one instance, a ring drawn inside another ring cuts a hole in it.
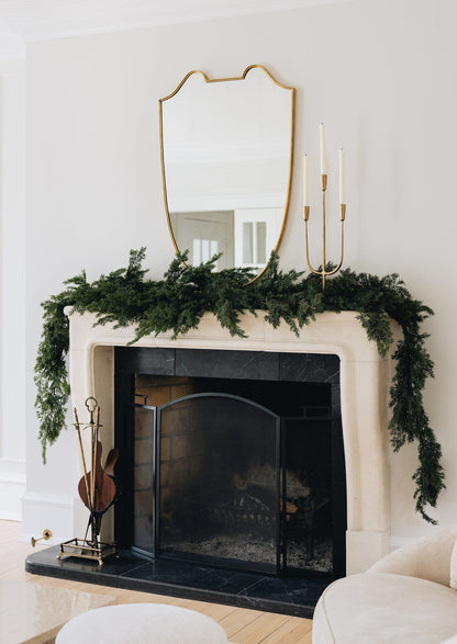
[[[109,595],[115,597],[118,603],[148,601],[181,606],[213,618],[225,630],[228,640],[237,644],[259,644],[260,642],[265,644],[296,644],[298,642],[311,644],[311,620],[31,575],[24,570],[25,556],[40,547],[46,547],[46,545],[41,546],[38,543],[33,549],[31,544],[18,541],[20,534],[21,523],[0,521],[0,578],[2,579],[21,579],[31,584]]]

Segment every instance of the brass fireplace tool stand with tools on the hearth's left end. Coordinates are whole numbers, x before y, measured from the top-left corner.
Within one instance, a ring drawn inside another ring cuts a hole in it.
[[[62,560],[64,556],[76,556],[81,557],[85,560],[94,560],[99,563],[99,566],[103,564],[103,560],[108,556],[115,555],[119,556],[116,553],[115,543],[104,543],[99,540],[100,533],[100,524],[102,512],[96,512],[97,507],[97,487],[96,487],[96,467],[97,467],[97,459],[101,456],[101,453],[98,454],[98,445],[99,445],[99,438],[100,438],[100,428],[103,427],[100,425],[100,407],[97,404],[96,398],[89,397],[86,399],[86,407],[89,411],[89,422],[85,425],[79,423],[78,413],[76,407],[74,408],[75,415],[75,428],[78,432],[78,441],[79,441],[79,450],[81,454],[81,463],[82,463],[82,472],[83,472],[83,482],[85,482],[85,490],[86,490],[86,498],[87,498],[87,506],[89,508],[90,517],[89,522],[86,530],[85,539],[70,539],[69,541],[65,541],[60,543],[59,553],[57,554],[57,558]],[[91,433],[91,447],[90,447],[90,472],[87,471],[86,465],[86,456],[82,447],[82,438],[81,438],[81,427],[82,429],[90,429]],[[82,498],[82,497],[81,497]],[[87,538],[88,530],[91,530],[91,539]]]

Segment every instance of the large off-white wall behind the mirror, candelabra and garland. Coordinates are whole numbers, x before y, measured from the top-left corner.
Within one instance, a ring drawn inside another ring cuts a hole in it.
[[[345,265],[399,272],[436,312],[425,325],[436,363],[425,404],[443,445],[447,490],[432,513],[441,526],[455,521],[456,20],[455,0],[360,0],[29,45],[25,532],[65,532],[65,521],[47,521],[52,508],[75,494],[67,472],[77,459],[67,432],[41,464],[32,379],[40,302],[81,268],[91,280],[125,265],[129,250],[143,245],[151,276],[161,276],[174,251],[161,195],[158,99],[191,69],[222,78],[249,64],[297,88],[296,160],[303,150],[310,155],[314,206],[317,125],[326,124],[335,217],[330,256],[337,255],[335,171],[344,145]],[[280,248],[286,270],[305,265],[300,183],[297,165]],[[317,248],[313,213],[316,207]],[[432,530],[414,513],[414,447],[392,457],[397,540]],[[38,521],[33,508],[40,499],[49,512]]]

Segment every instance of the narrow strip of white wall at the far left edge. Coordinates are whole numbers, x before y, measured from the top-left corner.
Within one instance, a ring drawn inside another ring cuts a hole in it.
[[[0,64],[0,518],[25,489],[25,71]]]

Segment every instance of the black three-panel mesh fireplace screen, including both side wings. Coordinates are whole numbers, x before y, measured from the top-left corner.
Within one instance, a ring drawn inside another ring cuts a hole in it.
[[[339,573],[341,429],[328,406],[287,415],[285,399],[280,414],[221,392],[135,405],[132,545],[253,572]]]

